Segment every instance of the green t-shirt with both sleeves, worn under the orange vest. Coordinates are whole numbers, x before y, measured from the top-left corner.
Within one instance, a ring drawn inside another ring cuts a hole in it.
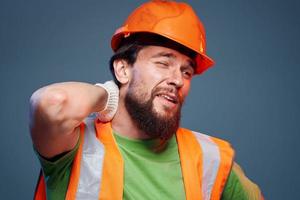
[[[155,153],[154,140],[134,140],[114,133],[125,163],[123,199],[185,199],[176,137],[167,148]],[[63,200],[67,192],[76,147],[58,159],[38,155],[45,174],[47,199]],[[37,153],[38,154],[38,153]],[[171,186],[171,187],[170,187]],[[260,190],[234,164],[222,194],[222,200],[259,199]]]

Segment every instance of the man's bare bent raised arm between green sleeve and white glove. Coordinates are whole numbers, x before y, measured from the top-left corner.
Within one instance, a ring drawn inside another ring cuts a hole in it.
[[[56,83],[30,98],[30,132],[37,151],[46,158],[73,149],[79,125],[92,112],[104,109],[105,89],[88,83]]]

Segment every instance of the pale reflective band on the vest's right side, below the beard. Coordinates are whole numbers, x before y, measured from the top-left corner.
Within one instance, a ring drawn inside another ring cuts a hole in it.
[[[203,152],[202,193],[203,200],[210,200],[220,165],[219,147],[207,135],[194,132]]]

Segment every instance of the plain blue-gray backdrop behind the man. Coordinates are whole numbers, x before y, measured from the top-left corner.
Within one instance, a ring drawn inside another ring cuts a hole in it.
[[[32,92],[111,79],[110,37],[141,2],[0,1],[1,199],[32,198]],[[230,141],[266,199],[300,199],[299,1],[188,2],[216,65],[193,80],[182,125]]]

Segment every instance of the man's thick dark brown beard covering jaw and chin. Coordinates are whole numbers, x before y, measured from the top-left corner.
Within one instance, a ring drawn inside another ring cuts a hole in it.
[[[153,109],[155,92],[149,100],[141,102],[135,94],[127,93],[125,96],[125,107],[134,121],[135,125],[150,138],[158,138],[161,144],[167,142],[176,133],[181,116],[182,101],[179,102],[177,111],[172,117],[161,117]],[[143,98],[140,96],[140,98]]]

